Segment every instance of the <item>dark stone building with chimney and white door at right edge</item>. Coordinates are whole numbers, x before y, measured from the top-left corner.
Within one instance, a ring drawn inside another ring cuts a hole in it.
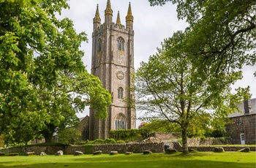
[[[227,136],[233,144],[256,143],[256,98],[238,104],[241,112],[229,115],[232,123],[227,124]]]

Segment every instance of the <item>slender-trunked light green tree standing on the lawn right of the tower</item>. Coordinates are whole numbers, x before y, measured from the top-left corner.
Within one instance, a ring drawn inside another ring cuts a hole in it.
[[[230,93],[230,84],[241,78],[241,72],[200,72],[185,52],[186,35],[178,31],[165,39],[157,55],[142,62],[135,74],[136,104],[145,112],[144,120],[178,124],[184,153],[188,153],[187,136],[194,123],[227,117],[238,110],[236,103],[241,99]]]

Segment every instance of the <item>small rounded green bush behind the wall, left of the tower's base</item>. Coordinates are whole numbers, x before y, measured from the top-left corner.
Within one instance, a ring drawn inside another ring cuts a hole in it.
[[[67,128],[58,131],[59,142],[64,144],[74,144],[78,141],[78,138],[81,136],[81,133],[78,129]]]

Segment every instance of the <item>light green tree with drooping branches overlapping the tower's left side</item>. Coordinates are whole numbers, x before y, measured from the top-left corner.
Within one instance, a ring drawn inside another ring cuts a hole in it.
[[[88,72],[60,73],[53,92],[45,102],[50,115],[50,122],[45,123],[41,133],[45,142],[50,142],[53,133],[57,129],[65,129],[66,126],[78,126],[79,120],[76,113],[83,111],[87,106],[97,110],[97,118],[105,119],[108,116],[107,107],[111,103],[111,96],[103,88],[98,77]]]

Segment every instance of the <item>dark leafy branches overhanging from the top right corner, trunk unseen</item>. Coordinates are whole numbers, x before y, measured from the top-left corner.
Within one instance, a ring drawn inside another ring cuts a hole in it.
[[[179,19],[187,19],[187,53],[202,70],[228,73],[255,65],[255,0],[148,0],[152,6],[177,4]],[[256,75],[256,73],[255,73]]]

